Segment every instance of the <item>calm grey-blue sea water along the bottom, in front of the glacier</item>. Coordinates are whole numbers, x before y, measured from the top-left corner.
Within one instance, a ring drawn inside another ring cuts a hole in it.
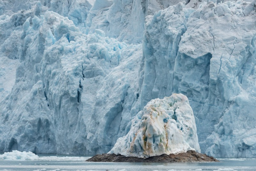
[[[39,160],[0,160],[0,171],[256,171],[256,159],[211,163],[104,163],[85,156],[40,156]]]

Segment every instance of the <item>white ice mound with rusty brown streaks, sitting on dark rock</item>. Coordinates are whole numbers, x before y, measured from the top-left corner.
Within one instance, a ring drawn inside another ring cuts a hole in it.
[[[108,153],[146,158],[188,150],[200,152],[193,111],[186,96],[172,94],[149,101]]]

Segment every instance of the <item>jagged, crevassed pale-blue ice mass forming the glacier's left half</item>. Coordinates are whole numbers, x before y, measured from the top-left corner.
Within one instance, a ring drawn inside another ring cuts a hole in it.
[[[1,20],[8,29],[1,34],[1,60],[5,66],[12,61],[16,75],[3,69],[4,78],[11,78],[8,86],[1,79],[0,149],[108,151],[131,120],[124,116],[121,122],[121,114],[131,108],[126,101],[137,100],[141,45],[104,37],[101,30],[86,35],[53,11],[36,16],[37,5]]]

